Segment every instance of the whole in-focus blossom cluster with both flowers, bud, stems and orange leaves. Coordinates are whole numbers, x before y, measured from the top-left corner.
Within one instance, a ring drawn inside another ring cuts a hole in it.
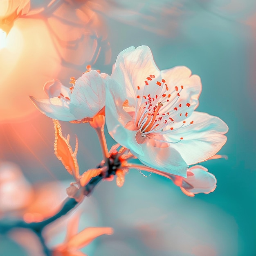
[[[159,70],[149,47],[129,47],[117,56],[110,76],[88,67],[71,85],[54,79],[44,86],[48,99],[30,97],[40,112],[55,119],[55,154],[75,180],[67,190],[70,197],[81,200],[98,175],[109,180],[116,175],[121,186],[132,168],[168,177],[189,196],[215,190],[215,176],[195,164],[221,157],[216,153],[227,140],[228,127],[218,117],[195,111],[202,84],[188,67]],[[109,152],[105,119],[117,142]],[[79,174],[77,146],[73,152],[57,120],[89,122],[95,128],[105,156],[98,169]]]

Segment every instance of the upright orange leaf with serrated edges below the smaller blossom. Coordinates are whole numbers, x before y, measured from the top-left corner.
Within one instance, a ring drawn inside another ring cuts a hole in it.
[[[58,122],[58,120],[52,120],[55,129],[54,154],[62,162],[68,173],[73,175],[76,179],[79,176],[79,166],[76,159],[76,154],[78,150],[77,137],[76,147],[73,152],[69,144],[70,136],[67,135],[67,138],[63,137],[60,123]]]

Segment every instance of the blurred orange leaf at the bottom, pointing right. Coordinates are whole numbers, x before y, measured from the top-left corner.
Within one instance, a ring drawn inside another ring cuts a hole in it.
[[[92,242],[95,238],[102,235],[112,235],[111,227],[88,227],[79,234],[73,236],[67,243],[67,247],[79,249]]]

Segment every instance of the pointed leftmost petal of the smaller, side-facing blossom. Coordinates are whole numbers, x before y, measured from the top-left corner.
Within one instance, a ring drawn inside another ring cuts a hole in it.
[[[36,99],[29,96],[36,108],[47,117],[61,121],[72,121],[77,118],[70,113],[70,107],[67,101],[54,97],[51,99]]]

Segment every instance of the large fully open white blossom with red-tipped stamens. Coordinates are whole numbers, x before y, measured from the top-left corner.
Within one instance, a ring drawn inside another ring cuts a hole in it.
[[[147,46],[121,52],[107,85],[108,131],[147,166],[186,177],[227,140],[220,118],[194,111],[200,77],[184,66],[160,71]]]

